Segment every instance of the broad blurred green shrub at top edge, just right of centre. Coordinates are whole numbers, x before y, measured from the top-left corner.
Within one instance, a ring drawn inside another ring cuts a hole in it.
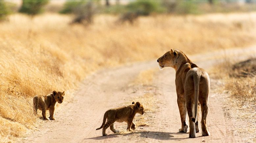
[[[127,5],[128,11],[139,13],[139,15],[149,15],[152,12],[164,12],[165,9],[161,6],[161,1],[153,0],[137,0],[130,2]]]

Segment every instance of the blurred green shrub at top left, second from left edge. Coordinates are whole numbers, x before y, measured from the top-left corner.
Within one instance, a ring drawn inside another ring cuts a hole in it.
[[[21,8],[19,12],[35,15],[41,13],[43,6],[45,6],[48,0],[22,0]]]

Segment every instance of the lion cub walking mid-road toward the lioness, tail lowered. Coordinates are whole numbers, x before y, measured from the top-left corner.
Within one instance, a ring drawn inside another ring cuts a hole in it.
[[[99,130],[102,129],[102,135],[108,135],[106,134],[106,129],[110,126],[110,130],[114,133],[118,133],[118,130],[115,130],[114,123],[115,121],[117,122],[127,122],[127,131],[131,131],[136,129],[136,125],[133,122],[133,118],[136,113],[140,113],[141,115],[144,114],[144,108],[141,105],[140,102],[134,102],[132,105],[129,105],[127,107],[119,107],[119,108],[114,108],[110,109],[105,112],[104,118],[103,118],[103,123],[100,128],[96,129]],[[108,119],[107,123],[106,119]]]

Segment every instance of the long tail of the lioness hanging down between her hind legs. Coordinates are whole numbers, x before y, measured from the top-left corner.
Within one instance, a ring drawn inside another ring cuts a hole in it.
[[[193,75],[193,79],[194,79],[194,96],[195,96],[195,104],[194,104],[194,110],[192,108],[192,121],[196,122],[197,119],[197,106],[198,106],[198,96],[199,96],[199,83],[200,83],[200,77],[201,75],[196,73]]]

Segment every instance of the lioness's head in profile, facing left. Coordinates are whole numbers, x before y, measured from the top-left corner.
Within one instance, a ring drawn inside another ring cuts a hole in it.
[[[175,63],[178,58],[178,50],[170,50],[167,51],[163,56],[157,59],[158,65],[160,69],[164,67],[172,67],[174,68]]]

